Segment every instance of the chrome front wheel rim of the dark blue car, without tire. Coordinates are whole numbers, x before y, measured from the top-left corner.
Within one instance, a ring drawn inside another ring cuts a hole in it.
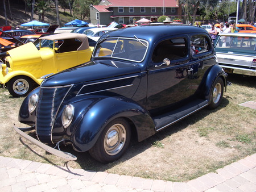
[[[126,130],[122,124],[114,124],[106,132],[104,139],[104,149],[108,155],[116,155],[119,153],[126,141]]]

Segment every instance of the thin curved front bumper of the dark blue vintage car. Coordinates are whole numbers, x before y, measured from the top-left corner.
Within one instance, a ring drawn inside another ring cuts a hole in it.
[[[71,153],[59,151],[57,149],[49,147],[48,145],[41,143],[39,140],[36,140],[35,138],[27,135],[22,130],[20,130],[20,128],[16,127],[15,124],[13,128],[16,132],[19,133],[20,136],[23,136],[25,139],[29,140],[31,143],[37,145],[38,147],[44,149],[45,151],[52,153],[53,155],[56,155],[58,157],[64,158],[66,160],[72,160],[72,161],[77,160],[76,156],[72,155]]]

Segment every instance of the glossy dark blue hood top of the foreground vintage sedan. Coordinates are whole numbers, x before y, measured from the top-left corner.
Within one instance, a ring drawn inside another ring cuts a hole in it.
[[[112,77],[140,73],[137,64],[128,62],[100,60],[90,61],[75,68],[53,74],[43,81],[43,87],[64,86],[81,82],[97,81]]]

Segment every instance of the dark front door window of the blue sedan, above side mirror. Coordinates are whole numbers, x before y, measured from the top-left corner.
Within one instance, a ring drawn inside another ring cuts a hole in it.
[[[182,59],[188,55],[187,41],[184,38],[168,39],[156,45],[152,55],[153,62],[163,62],[164,59]]]

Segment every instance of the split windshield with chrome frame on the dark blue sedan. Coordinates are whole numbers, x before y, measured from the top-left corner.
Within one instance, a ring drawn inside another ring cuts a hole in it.
[[[138,38],[101,39],[94,49],[93,58],[109,57],[141,62],[146,56],[147,48],[148,42]]]

